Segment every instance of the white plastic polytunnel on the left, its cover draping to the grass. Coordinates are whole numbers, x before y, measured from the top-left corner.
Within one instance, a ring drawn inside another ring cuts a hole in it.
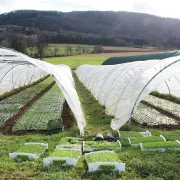
[[[0,95],[28,85],[50,74],[61,89],[77,121],[80,134],[86,126],[71,70],[66,65],[53,65],[30,58],[11,49],[0,48]]]

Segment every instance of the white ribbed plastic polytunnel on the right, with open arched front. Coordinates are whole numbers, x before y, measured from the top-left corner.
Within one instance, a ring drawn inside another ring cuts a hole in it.
[[[130,122],[137,104],[152,91],[180,96],[180,56],[117,65],[83,65],[76,74],[105,106],[106,113],[114,116],[113,130]]]

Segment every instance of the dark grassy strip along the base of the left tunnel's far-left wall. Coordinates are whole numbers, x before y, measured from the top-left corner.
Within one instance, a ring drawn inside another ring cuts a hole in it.
[[[27,89],[27,88],[30,88],[30,87],[32,87],[32,86],[34,86],[34,85],[36,85],[36,84],[39,84],[40,82],[44,81],[44,80],[47,79],[48,77],[49,77],[49,75],[47,75],[47,76],[45,76],[45,77],[43,77],[43,78],[41,78],[41,79],[39,79],[39,80],[31,83],[31,84],[28,84],[28,85],[25,85],[25,86],[23,86],[23,87],[19,87],[19,88],[13,89],[13,90],[10,91],[10,92],[6,92],[6,93],[0,95],[0,101],[2,101],[3,99],[6,99],[7,97],[10,97],[10,96],[12,96],[12,95],[14,95],[14,94],[17,94],[17,93],[19,93],[19,92],[21,92],[21,91],[23,91],[23,90],[25,90],[25,89]]]

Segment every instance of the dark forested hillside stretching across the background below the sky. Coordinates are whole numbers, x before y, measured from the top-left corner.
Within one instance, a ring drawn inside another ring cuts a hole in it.
[[[51,43],[180,47],[180,20],[142,13],[21,10],[0,15],[0,27],[1,34],[44,34]]]

